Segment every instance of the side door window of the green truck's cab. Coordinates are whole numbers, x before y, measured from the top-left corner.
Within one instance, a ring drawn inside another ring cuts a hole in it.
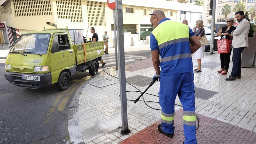
[[[64,51],[64,50],[70,49],[69,40],[67,38],[67,35],[55,35],[52,45],[58,46],[59,51]],[[57,51],[54,51],[54,52],[57,52]]]

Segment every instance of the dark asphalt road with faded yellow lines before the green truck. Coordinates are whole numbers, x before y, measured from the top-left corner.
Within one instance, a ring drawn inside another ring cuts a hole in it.
[[[150,56],[151,51],[126,52],[127,55]],[[90,78],[77,72],[71,86],[60,91],[55,85],[37,90],[17,87],[3,75],[0,63],[0,144],[65,144],[68,135],[68,108],[77,88]]]

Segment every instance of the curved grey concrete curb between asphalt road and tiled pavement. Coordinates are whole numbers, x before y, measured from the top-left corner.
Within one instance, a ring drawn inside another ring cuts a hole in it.
[[[101,74],[104,72],[103,70],[96,74],[95,76]],[[81,136],[81,131],[78,125],[78,106],[79,106],[79,97],[83,90],[83,88],[88,84],[91,79],[93,79],[95,76],[92,76],[90,79],[85,81],[81,86],[77,89],[76,93],[74,94],[74,97],[72,101],[70,102],[69,110],[68,110],[68,133],[70,137],[70,143],[71,144],[85,144],[83,141],[83,138]]]

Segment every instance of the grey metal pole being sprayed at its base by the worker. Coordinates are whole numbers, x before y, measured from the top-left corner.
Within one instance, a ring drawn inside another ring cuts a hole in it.
[[[117,40],[118,40],[118,64],[120,78],[120,94],[121,94],[121,116],[122,131],[129,131],[127,118],[127,99],[126,99],[126,80],[125,80],[125,47],[124,47],[124,26],[123,26],[123,10],[122,0],[116,0],[117,9]],[[121,131],[121,133],[122,133]]]

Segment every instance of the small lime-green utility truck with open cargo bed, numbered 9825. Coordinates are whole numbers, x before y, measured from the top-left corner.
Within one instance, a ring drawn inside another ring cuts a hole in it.
[[[60,90],[66,90],[70,76],[77,71],[89,70],[91,75],[98,72],[98,61],[104,54],[103,42],[84,45],[81,30],[44,29],[24,33],[10,49],[4,77],[20,87],[37,89],[56,83]]]

